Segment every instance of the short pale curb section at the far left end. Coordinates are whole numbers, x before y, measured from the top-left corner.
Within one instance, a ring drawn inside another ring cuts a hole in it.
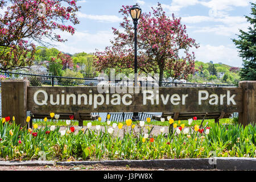
[[[17,161],[0,161],[0,166],[54,166],[54,161],[45,160],[27,160],[22,162]]]

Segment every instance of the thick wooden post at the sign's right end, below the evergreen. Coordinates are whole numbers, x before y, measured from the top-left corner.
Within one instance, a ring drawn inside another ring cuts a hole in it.
[[[243,90],[243,112],[238,115],[238,122],[243,126],[256,123],[256,81],[240,81]]]

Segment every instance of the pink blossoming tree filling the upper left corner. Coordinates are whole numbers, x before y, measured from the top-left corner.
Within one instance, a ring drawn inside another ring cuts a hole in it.
[[[0,69],[29,67],[35,45],[50,45],[48,40],[64,42],[56,30],[75,33],[70,23],[78,24],[80,9],[71,0],[0,0]],[[33,43],[34,42],[34,43]]]

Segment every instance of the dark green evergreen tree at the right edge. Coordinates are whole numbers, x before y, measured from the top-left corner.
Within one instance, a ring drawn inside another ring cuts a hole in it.
[[[240,56],[243,58],[243,68],[240,70],[241,80],[256,80],[256,4],[251,3],[251,15],[245,16],[250,22],[249,31],[240,30],[238,39],[233,39],[236,47],[240,49]]]

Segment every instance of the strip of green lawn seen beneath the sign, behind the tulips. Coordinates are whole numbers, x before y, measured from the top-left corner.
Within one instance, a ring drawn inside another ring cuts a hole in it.
[[[202,120],[196,120],[192,122],[192,125],[200,125]],[[235,123],[236,119],[230,119],[230,118],[224,118],[224,119],[220,119],[220,125],[227,125],[227,124],[233,124]],[[92,122],[92,126],[96,126],[96,125],[101,125],[101,126],[106,126],[107,123],[106,122],[101,122],[101,121],[84,121],[83,125],[86,126],[88,122]],[[205,125],[208,122],[208,124],[214,124],[214,119],[205,119],[203,125]],[[39,119],[34,119],[33,123],[38,124],[39,126],[45,126],[46,122],[39,120]],[[113,122],[112,122],[113,123]],[[111,123],[111,125],[112,125]],[[119,122],[118,122],[119,123]],[[125,125],[125,122],[122,122],[123,125]],[[180,121],[180,125],[178,123],[178,121],[175,121],[174,123],[177,123],[178,126],[180,126],[181,124],[185,124],[185,126],[189,126],[188,125],[188,120],[183,120]],[[137,124],[137,122],[133,122],[133,124]],[[165,122],[161,122],[161,121],[151,121],[150,123],[147,123],[145,121],[146,125],[156,125],[156,126],[169,126],[168,121]],[[47,121],[47,125],[56,125],[56,126],[67,126],[66,122],[64,120],[59,120],[59,121]],[[75,123],[73,123],[74,126],[78,126],[79,122],[75,121]]]

